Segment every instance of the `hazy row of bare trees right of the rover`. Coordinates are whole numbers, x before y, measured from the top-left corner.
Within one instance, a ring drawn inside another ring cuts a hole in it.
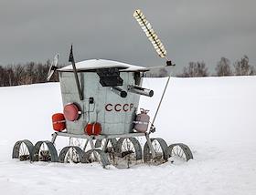
[[[205,62],[189,62],[187,67],[183,68],[178,77],[223,77],[223,76],[252,76],[256,75],[256,69],[249,64],[249,57],[242,56],[233,65],[226,57],[221,57],[215,67],[215,74],[210,75]]]

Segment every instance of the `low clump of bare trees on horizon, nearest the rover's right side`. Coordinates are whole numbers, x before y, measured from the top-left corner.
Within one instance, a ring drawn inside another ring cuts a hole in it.
[[[208,77],[208,67],[205,62],[189,62],[188,67],[183,68],[179,77]]]

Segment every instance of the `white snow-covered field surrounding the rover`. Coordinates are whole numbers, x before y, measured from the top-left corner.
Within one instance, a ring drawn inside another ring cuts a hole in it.
[[[146,79],[155,113],[165,79]],[[98,164],[20,162],[16,140],[51,139],[62,111],[58,83],[0,87],[0,194],[256,194],[256,77],[171,78],[154,137],[186,143],[194,159],[155,167],[101,169]]]

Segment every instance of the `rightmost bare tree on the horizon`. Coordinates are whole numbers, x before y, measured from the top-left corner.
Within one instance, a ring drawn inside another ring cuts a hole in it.
[[[249,65],[249,57],[243,56],[234,64],[236,76],[250,76],[255,74],[255,68]]]

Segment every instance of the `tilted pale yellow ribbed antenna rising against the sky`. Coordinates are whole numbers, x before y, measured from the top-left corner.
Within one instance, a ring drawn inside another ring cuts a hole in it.
[[[156,35],[155,30],[153,29],[153,26],[151,26],[151,24],[146,20],[143,12],[140,9],[137,9],[134,11],[133,17],[137,20],[138,24],[142,27],[145,35],[154,46],[158,56],[165,58],[166,61],[168,61],[166,57],[167,51],[165,50],[165,46],[162,44],[162,42]]]

